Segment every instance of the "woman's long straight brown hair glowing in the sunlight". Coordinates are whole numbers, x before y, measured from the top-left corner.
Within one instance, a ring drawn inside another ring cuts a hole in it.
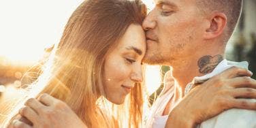
[[[140,127],[142,86],[135,85],[123,106],[112,104],[108,109],[108,101],[102,97],[102,75],[107,53],[116,47],[129,25],[142,25],[145,16],[146,6],[140,0],[84,1],[69,18],[52,60],[31,84],[31,91],[43,85],[37,96],[48,93],[65,101],[88,127],[122,127],[125,121],[127,127]]]

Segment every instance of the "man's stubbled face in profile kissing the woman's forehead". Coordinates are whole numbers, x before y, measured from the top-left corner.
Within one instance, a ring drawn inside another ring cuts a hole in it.
[[[202,39],[203,18],[195,0],[155,0],[145,18],[147,51],[144,62],[172,65],[194,54]]]

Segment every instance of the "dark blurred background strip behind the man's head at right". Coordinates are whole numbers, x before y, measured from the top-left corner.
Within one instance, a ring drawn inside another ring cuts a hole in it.
[[[256,1],[244,0],[242,16],[229,40],[226,57],[231,61],[248,61],[256,78]]]

